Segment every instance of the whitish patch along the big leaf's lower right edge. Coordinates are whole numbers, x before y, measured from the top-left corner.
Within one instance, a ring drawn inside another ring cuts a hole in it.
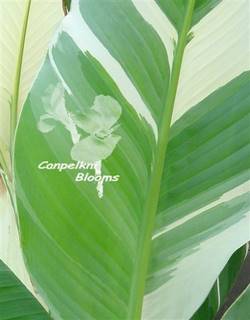
[[[166,319],[166,315],[169,319],[191,318],[194,311],[205,300],[232,252],[249,238],[249,219],[250,211],[224,232],[201,242],[198,250],[193,250],[183,257],[178,265],[169,266],[168,281],[145,296],[143,319]],[[232,234],[238,236],[232,239]],[[214,261],[216,263],[213,263]],[[205,287],[207,290],[200,290]],[[176,288],[182,288],[182,290],[176,292]],[[197,292],[199,292],[198,295]],[[190,298],[193,296],[197,299]],[[161,297],[164,297],[164,303]],[[177,304],[185,305],[185,308],[178,308]]]

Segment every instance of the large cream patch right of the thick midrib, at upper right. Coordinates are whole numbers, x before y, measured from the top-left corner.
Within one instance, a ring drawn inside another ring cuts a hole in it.
[[[172,123],[216,89],[250,69],[250,2],[224,0],[192,29]]]

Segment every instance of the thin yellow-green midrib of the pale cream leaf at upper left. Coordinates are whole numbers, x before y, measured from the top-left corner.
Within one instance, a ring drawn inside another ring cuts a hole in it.
[[[10,150],[11,150],[11,153],[12,153],[12,145],[13,145],[14,136],[15,136],[16,124],[17,124],[19,87],[20,87],[20,80],[21,80],[24,44],[25,44],[25,38],[26,38],[26,33],[27,33],[30,5],[31,5],[31,0],[26,0],[25,8],[24,8],[23,25],[22,25],[22,31],[21,31],[19,49],[18,49],[18,56],[17,56],[17,62],[16,62],[16,72],[15,72],[15,78],[14,78],[13,96],[12,96],[11,110],[10,110]]]

